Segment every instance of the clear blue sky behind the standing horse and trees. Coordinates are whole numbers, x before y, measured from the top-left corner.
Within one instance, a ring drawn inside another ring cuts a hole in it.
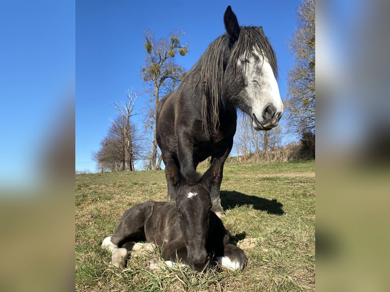
[[[156,38],[172,30],[184,31],[182,43],[189,53],[177,63],[190,69],[207,45],[225,33],[223,15],[232,6],[240,25],[262,25],[278,60],[280,92],[286,96],[286,74],[292,66],[287,42],[297,23],[299,0],[285,1],[85,1],[76,2],[76,170],[95,171],[91,151],[110,126],[127,89],[144,90],[140,71],[144,65],[144,31]],[[141,112],[143,96],[136,111]]]

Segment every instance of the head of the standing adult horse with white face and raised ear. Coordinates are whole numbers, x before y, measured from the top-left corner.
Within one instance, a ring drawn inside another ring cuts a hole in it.
[[[263,28],[240,27],[230,6],[224,21],[231,50],[224,95],[230,95],[229,98],[250,116],[256,130],[270,130],[277,126],[284,111],[276,82],[275,53]]]

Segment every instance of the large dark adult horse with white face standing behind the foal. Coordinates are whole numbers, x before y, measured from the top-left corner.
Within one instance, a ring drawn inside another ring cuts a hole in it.
[[[178,89],[157,107],[156,139],[165,166],[175,164],[185,178],[211,156],[210,167],[219,177],[211,186],[213,211],[224,215],[219,190],[222,170],[236,132],[237,108],[256,130],[270,130],[283,114],[276,83],[275,53],[263,28],[239,26],[230,6],[226,9],[227,34],[212,42],[189,70]],[[175,187],[168,176],[168,200]]]

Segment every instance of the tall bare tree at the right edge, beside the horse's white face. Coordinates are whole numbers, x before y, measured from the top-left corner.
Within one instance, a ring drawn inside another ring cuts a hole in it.
[[[302,0],[298,27],[289,43],[294,68],[288,72],[288,126],[293,133],[315,133],[315,0]]]

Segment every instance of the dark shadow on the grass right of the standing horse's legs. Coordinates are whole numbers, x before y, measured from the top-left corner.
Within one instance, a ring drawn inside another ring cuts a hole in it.
[[[257,196],[245,195],[236,191],[221,191],[221,206],[224,210],[231,210],[243,205],[252,205],[253,209],[266,211],[268,214],[283,215],[283,204],[276,199],[265,199]]]

